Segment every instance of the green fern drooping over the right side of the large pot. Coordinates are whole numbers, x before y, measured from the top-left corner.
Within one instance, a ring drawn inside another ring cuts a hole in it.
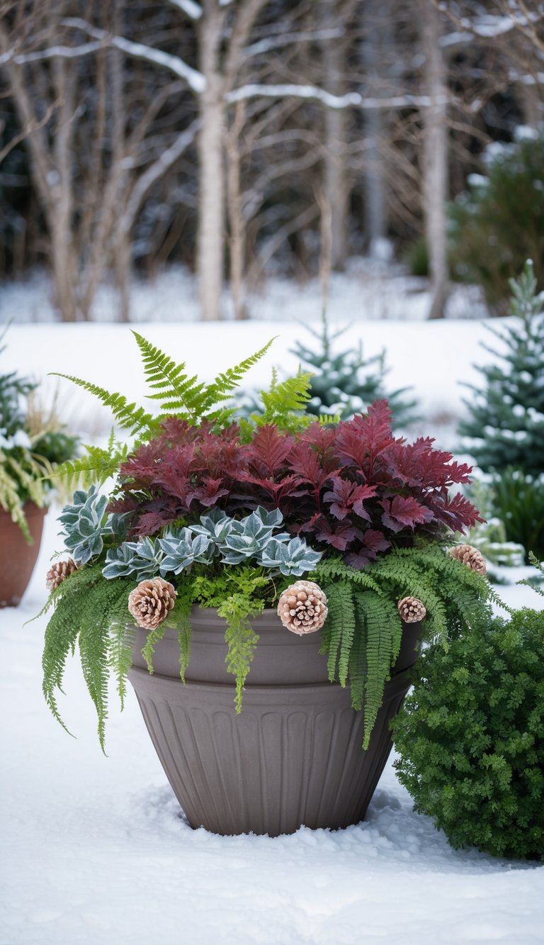
[[[382,705],[383,687],[399,655],[398,601],[413,594],[427,609],[424,630],[444,644],[469,629],[487,601],[501,604],[488,581],[437,545],[398,548],[365,567],[339,557],[320,561],[311,579],[327,594],[329,615],[321,652],[329,679],[349,683],[354,709],[365,713],[365,748]],[[503,606],[503,605],[501,605]]]

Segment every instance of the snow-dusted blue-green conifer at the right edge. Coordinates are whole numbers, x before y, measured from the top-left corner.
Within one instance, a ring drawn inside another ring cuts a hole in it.
[[[483,346],[499,362],[478,368],[483,390],[467,385],[473,391],[465,401],[470,417],[461,421],[459,433],[485,472],[512,466],[537,475],[544,470],[544,292],[536,292],[531,261],[510,285],[516,321],[502,330],[489,328],[504,350]]]

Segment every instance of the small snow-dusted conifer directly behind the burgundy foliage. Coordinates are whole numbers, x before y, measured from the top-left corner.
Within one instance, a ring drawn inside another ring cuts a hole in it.
[[[325,313],[323,313],[320,331],[308,327],[308,331],[317,339],[319,346],[303,345],[297,342],[291,351],[300,358],[304,369],[312,371],[310,394],[306,411],[315,416],[331,414],[341,420],[348,420],[355,413],[364,412],[374,401],[387,399],[393,411],[393,424],[405,426],[416,420],[413,413],[415,400],[404,400],[402,395],[409,389],[387,391],[384,387],[385,351],[373,357],[363,356],[363,345],[359,342],[357,350],[332,351],[332,343],[347,329],[341,328],[330,334]]]

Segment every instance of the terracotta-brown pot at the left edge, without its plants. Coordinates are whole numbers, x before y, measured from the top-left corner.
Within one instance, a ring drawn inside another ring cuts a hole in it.
[[[27,502],[24,508],[32,536],[32,544],[11,516],[0,508],[0,607],[17,607],[26,592],[42,541],[43,519],[46,508]]]

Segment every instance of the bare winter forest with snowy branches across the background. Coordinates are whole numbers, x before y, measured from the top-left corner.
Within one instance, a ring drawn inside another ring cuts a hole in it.
[[[450,278],[503,313],[527,256],[542,277],[536,0],[1,12],[0,274],[50,273],[55,318],[93,318],[108,283],[127,320],[133,280],[173,264],[197,273],[203,319],[251,316],[274,276],[326,292],[361,257],[428,275],[431,318]],[[525,188],[467,233],[501,159]]]

